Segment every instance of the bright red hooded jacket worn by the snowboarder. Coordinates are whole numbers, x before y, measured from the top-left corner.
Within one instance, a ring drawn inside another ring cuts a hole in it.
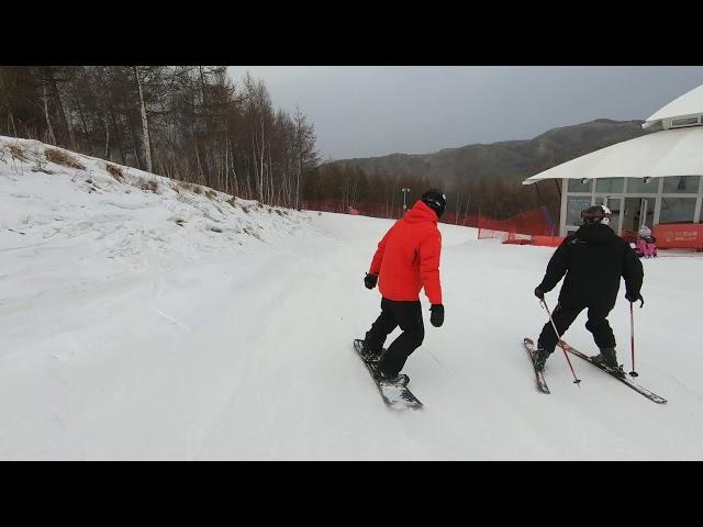
[[[440,251],[437,214],[417,201],[378,244],[369,274],[379,277],[379,290],[388,300],[420,300],[424,285],[429,302],[440,304]]]

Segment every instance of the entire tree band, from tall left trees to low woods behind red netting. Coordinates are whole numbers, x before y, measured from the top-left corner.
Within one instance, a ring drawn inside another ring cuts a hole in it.
[[[428,187],[423,175],[367,173],[321,162],[314,124],[275,109],[261,79],[225,66],[2,66],[0,135],[40,139],[263,203],[399,217]],[[548,205],[556,184],[471,177],[444,188],[457,217],[509,217]]]

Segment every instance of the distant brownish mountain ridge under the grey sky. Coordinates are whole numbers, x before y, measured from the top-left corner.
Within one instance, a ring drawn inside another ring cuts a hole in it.
[[[498,176],[505,181],[522,181],[576,157],[650,133],[641,128],[643,122],[598,119],[553,128],[532,139],[471,144],[424,155],[339,159],[332,164],[354,166],[367,175],[421,176],[445,186]]]

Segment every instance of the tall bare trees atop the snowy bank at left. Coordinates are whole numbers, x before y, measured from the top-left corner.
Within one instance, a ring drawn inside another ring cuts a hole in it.
[[[3,66],[0,134],[292,208],[319,165],[303,112],[225,66]]]

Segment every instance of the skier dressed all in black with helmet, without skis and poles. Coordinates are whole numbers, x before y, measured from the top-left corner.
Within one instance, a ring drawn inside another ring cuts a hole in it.
[[[640,307],[644,305],[639,292],[644,272],[629,244],[609,226],[612,215],[604,205],[593,205],[581,212],[583,225],[567,236],[551,256],[545,278],[535,289],[535,296],[544,301],[545,293],[551,291],[566,273],[559,303],[553,313],[559,335],[563,335],[579,313],[588,309],[585,328],[593,334],[601,351],[595,360],[617,369],[615,336],[606,317],[615,306],[621,277],[625,279],[625,298],[631,302],[639,300]],[[557,340],[548,322],[537,340],[535,369],[544,369]]]

